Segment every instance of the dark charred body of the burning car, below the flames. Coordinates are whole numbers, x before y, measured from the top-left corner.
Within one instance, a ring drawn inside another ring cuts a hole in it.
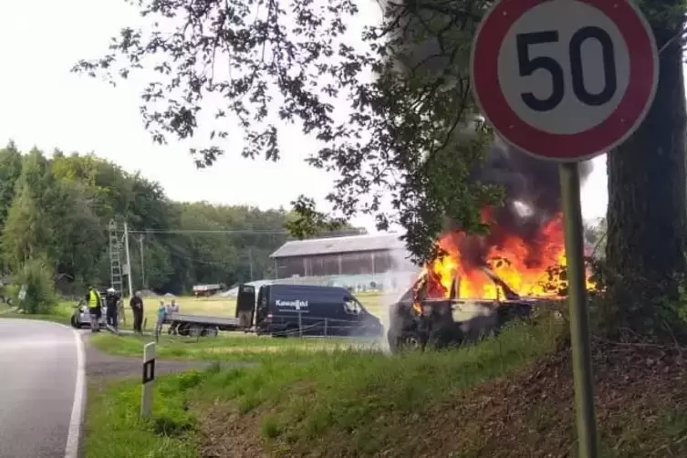
[[[476,343],[493,336],[505,324],[518,318],[529,317],[536,298],[519,297],[493,272],[484,268],[487,276],[503,297],[496,299],[463,299],[457,297],[460,278],[453,280],[449,297],[426,298],[426,289],[420,278],[395,304],[390,307],[390,325],[387,339],[391,352],[403,349],[445,349]],[[473,310],[472,317],[456,320],[453,313],[464,307]]]

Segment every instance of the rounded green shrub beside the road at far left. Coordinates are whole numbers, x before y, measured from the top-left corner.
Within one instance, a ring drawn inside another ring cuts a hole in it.
[[[46,313],[57,304],[55,296],[55,283],[52,268],[45,258],[29,259],[16,273],[15,284],[26,285],[26,297],[19,300],[13,297],[15,305],[24,313]]]

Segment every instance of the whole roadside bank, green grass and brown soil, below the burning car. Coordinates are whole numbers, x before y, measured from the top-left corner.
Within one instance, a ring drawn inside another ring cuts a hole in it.
[[[563,326],[517,325],[453,351],[294,350],[169,376],[150,422],[138,383],[118,383],[91,400],[87,457],[576,456]],[[600,458],[687,456],[684,354],[595,340]]]

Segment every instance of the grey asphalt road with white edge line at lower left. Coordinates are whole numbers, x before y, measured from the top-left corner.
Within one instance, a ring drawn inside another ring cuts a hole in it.
[[[76,458],[84,364],[72,329],[0,318],[0,458]]]

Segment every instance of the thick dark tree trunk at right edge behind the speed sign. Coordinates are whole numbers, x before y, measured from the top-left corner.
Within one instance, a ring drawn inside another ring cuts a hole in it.
[[[687,269],[687,116],[682,42],[674,38],[682,20],[672,22],[652,24],[662,50],[651,110],[608,157],[609,301],[602,318],[611,337],[623,329],[655,338],[687,337],[676,307]]]

